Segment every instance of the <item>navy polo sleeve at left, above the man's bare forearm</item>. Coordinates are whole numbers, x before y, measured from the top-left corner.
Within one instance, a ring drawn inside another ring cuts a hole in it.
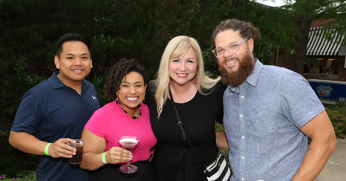
[[[27,91],[20,101],[11,131],[27,132],[33,135],[37,132],[43,118],[42,104],[33,92]]]

